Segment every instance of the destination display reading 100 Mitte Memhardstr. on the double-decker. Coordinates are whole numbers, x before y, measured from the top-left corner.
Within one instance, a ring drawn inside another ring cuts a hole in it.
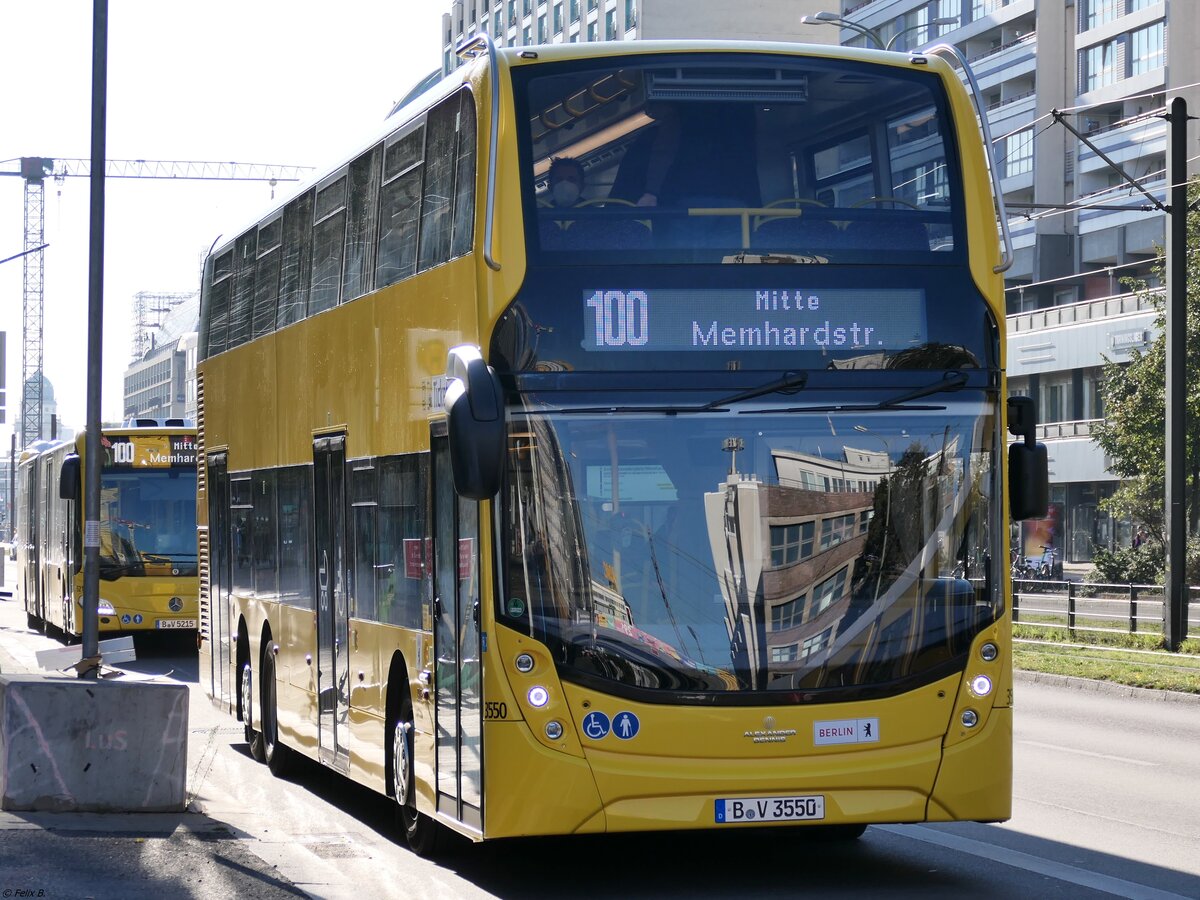
[[[701,288],[583,292],[586,350],[902,350],[928,342],[925,292]]]

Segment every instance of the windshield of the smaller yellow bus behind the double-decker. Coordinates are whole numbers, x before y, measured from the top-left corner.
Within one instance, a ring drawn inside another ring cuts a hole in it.
[[[197,574],[193,467],[103,467],[100,574],[109,578]]]

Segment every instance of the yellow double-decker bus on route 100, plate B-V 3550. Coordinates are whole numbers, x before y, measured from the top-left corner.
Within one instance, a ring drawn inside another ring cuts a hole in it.
[[[421,853],[1006,818],[1045,450],[950,48],[462,53],[206,262],[214,701]]]

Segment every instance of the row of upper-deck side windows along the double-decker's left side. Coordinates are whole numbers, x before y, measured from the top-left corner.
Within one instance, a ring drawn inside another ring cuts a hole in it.
[[[470,253],[475,126],[460,90],[222,248],[205,276],[202,358]]]

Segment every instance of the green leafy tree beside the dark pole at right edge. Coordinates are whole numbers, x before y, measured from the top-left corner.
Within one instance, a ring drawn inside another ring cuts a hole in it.
[[[1188,186],[1187,258],[1187,371],[1200,372],[1200,180]],[[1092,430],[1092,439],[1111,460],[1111,470],[1122,481],[1100,505],[1114,516],[1145,522],[1151,530],[1153,551],[1102,554],[1099,562],[1112,577],[1122,564],[1129,575],[1145,576],[1147,566],[1163,568],[1166,496],[1166,269],[1156,263],[1151,282],[1126,280],[1134,293],[1145,296],[1157,311],[1158,336],[1145,350],[1133,350],[1128,362],[1104,358],[1100,398],[1104,421]],[[1186,398],[1188,433],[1184,450],[1187,478],[1188,534],[1200,534],[1200,382],[1188,377]],[[1189,541],[1190,542],[1190,541]],[[1189,565],[1189,569],[1194,566]],[[1144,580],[1144,578],[1139,578]]]

